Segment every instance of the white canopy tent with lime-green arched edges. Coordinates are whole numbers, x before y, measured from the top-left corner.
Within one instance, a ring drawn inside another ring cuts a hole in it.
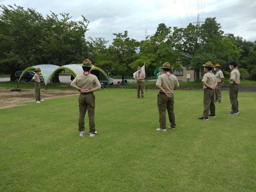
[[[67,70],[70,71],[70,73],[74,77],[76,77],[78,74],[83,73],[82,64],[69,64],[69,65],[64,65],[64,66],[61,66],[61,67],[56,66],[56,65],[51,65],[51,64],[36,65],[36,66],[28,67],[25,70],[23,70],[22,74],[20,75],[18,85],[19,85],[19,82],[20,82],[20,79],[21,79],[22,75],[25,74],[26,71],[35,70],[37,68],[41,69],[41,75],[44,78],[45,89],[47,89],[47,83],[52,82],[52,78],[58,70],[67,69]],[[101,68],[92,67],[92,70],[99,70],[103,74],[103,76],[106,77],[107,81],[109,81],[107,74]]]

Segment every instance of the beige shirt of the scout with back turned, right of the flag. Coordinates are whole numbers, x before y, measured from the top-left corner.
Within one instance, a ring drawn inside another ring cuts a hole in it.
[[[179,87],[178,79],[175,75],[159,75],[156,80],[156,85],[161,85],[165,91],[173,93],[174,87]]]

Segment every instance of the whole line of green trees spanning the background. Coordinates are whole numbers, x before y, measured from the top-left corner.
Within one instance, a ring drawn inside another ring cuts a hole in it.
[[[136,41],[128,31],[113,34],[115,38],[108,47],[103,37],[88,37],[90,23],[72,20],[68,13],[43,17],[34,9],[0,5],[0,71],[10,73],[15,81],[15,71],[29,66],[82,63],[85,58],[95,66],[124,77],[131,76],[138,66],[146,64],[146,73],[152,76],[159,64],[168,61],[173,70],[180,66],[195,70],[196,79],[202,64],[220,63],[229,75],[228,63],[238,62],[243,76],[256,79],[256,41],[243,40],[233,34],[224,34],[215,18],[186,28],[167,27],[159,23],[155,34]],[[256,40],[256,39],[255,39]],[[179,61],[179,62],[177,62]],[[58,81],[58,74],[55,81]]]

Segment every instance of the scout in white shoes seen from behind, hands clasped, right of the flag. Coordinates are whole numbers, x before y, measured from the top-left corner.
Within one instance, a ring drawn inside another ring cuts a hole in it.
[[[174,114],[174,90],[179,88],[179,82],[175,75],[170,73],[171,65],[169,62],[163,63],[161,67],[162,74],[156,80],[156,86],[159,90],[157,95],[157,106],[159,113],[160,128],[157,131],[166,131],[166,109],[169,116],[169,128],[175,129],[175,114]]]

